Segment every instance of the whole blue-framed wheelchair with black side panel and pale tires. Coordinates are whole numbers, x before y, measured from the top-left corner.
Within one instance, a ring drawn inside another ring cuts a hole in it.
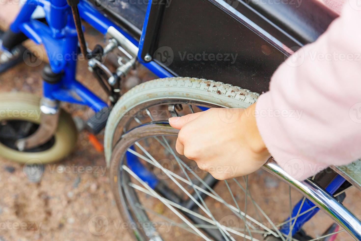
[[[44,18],[32,17],[39,8]],[[271,158],[220,181],[177,154],[178,130],[168,123],[255,103],[275,69],[336,17],[317,0],[26,0],[1,36],[0,70],[27,54],[26,39],[43,45],[49,64],[42,98],[0,95],[0,153],[21,163],[61,160],[77,129],[60,103],[82,104],[94,112],[87,130],[104,130],[114,199],[134,240],[361,240],[361,221],[343,205],[346,190],[360,189],[360,160],[297,181]],[[82,21],[104,35],[92,50]],[[115,69],[104,61],[110,53]],[[108,99],[76,80],[80,57]],[[159,78],[122,93],[139,65]]]

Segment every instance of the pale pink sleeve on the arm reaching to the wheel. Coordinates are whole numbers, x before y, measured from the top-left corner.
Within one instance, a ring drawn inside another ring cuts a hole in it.
[[[347,0],[316,42],[289,57],[256,103],[261,136],[298,180],[361,158],[361,5]]]

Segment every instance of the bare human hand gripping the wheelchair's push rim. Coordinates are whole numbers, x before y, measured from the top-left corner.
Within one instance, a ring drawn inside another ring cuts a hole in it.
[[[256,125],[255,104],[247,109],[211,108],[169,124],[180,129],[176,150],[218,180],[257,171],[270,154]]]

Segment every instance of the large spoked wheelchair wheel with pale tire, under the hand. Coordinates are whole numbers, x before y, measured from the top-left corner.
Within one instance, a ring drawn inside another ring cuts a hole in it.
[[[106,160],[114,198],[136,240],[360,239],[360,220],[339,202],[340,193],[337,200],[273,162],[246,177],[218,181],[177,154],[178,130],[166,123],[168,117],[209,107],[246,108],[257,96],[180,77],[145,82],[122,96],[106,126]]]

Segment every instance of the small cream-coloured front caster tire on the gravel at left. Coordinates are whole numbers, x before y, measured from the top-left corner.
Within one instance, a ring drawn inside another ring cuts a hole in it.
[[[31,130],[40,123],[40,98],[23,92],[0,94],[0,156],[19,163],[52,163],[70,154],[77,141],[77,129],[70,114],[61,110],[58,128],[48,143],[28,151],[18,151],[11,143],[16,127],[26,125]],[[19,128],[20,129],[20,128]],[[26,129],[22,128],[21,130]],[[27,129],[28,130],[28,129]],[[29,135],[29,134],[27,134]],[[10,140],[9,140],[10,138]]]

